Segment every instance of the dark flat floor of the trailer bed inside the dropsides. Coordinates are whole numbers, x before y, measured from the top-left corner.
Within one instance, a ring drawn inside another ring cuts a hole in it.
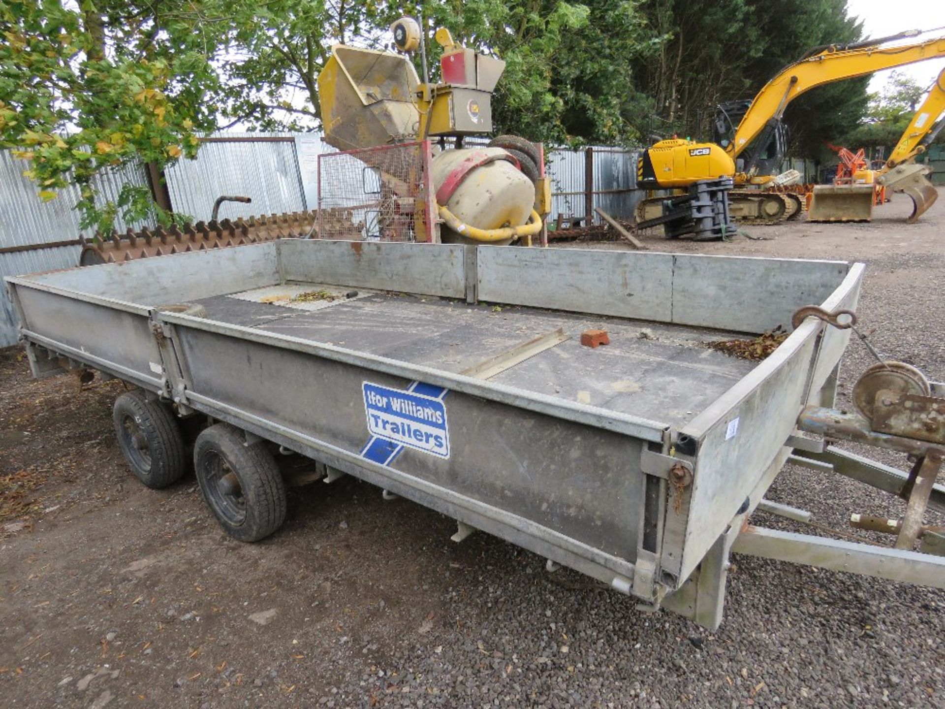
[[[299,303],[284,295],[266,295],[278,288],[215,296],[199,303],[212,320],[446,372],[463,372],[562,328],[570,339],[490,381],[677,426],[695,417],[756,364],[703,345],[745,337],[722,330],[520,306],[470,305],[365,289],[356,298],[344,299],[349,289],[319,284],[282,288],[296,295],[326,291],[338,300]],[[281,300],[259,302],[265,298]],[[607,330],[610,345],[582,346],[580,335],[591,328]]]

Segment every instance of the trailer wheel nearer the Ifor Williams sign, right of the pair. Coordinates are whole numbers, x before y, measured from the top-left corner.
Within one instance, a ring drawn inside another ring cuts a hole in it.
[[[285,485],[263,441],[248,444],[235,426],[215,424],[194,445],[203,499],[227,534],[258,542],[285,520]]]

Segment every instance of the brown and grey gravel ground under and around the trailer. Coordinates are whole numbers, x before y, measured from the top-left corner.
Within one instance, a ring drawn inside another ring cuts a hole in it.
[[[943,379],[945,204],[917,225],[907,211],[897,198],[866,225],[648,242],[866,261],[859,313],[876,346]],[[842,395],[869,363],[851,344]],[[736,556],[710,633],[488,535],[452,544],[450,520],[347,478],[290,491],[285,527],[241,545],[193,477],[163,492],[131,478],[111,430],[121,390],[32,381],[18,352],[0,354],[5,707],[945,705],[941,591]],[[768,496],[835,527],[902,513],[790,467]]]

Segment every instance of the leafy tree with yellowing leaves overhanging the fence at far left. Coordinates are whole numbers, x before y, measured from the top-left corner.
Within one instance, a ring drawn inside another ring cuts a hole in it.
[[[204,98],[217,83],[216,39],[212,26],[195,31],[194,7],[0,0],[0,147],[29,162],[41,199],[76,184],[83,228],[108,232],[118,214],[166,221],[143,187],[96,203],[94,175],[192,157],[195,131],[215,125]]]

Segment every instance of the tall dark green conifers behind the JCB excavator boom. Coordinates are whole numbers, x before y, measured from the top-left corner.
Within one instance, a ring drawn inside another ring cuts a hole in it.
[[[655,60],[639,58],[633,80],[656,110],[645,130],[663,135],[708,138],[715,105],[752,97],[809,49],[854,42],[862,29],[846,0],[649,0],[641,9],[663,41]],[[816,151],[855,125],[865,105],[866,79],[800,96],[784,115],[794,152]]]

